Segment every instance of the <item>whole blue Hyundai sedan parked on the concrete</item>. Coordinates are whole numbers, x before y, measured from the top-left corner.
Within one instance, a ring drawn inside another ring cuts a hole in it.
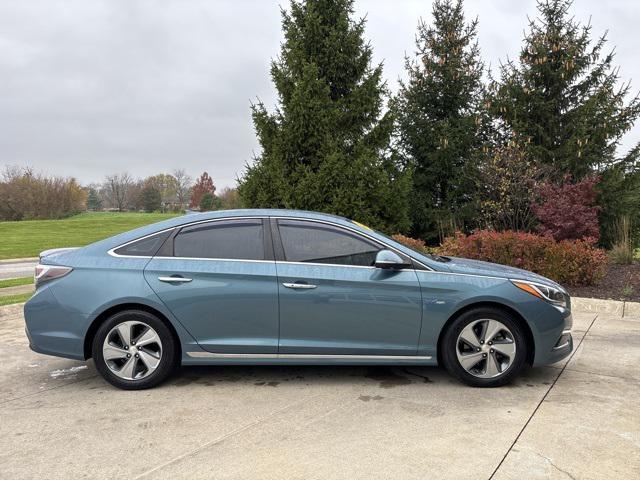
[[[31,348],[124,389],[226,364],[440,364],[493,387],[573,348],[557,283],[314,212],[185,215],[45,251],[35,279]]]

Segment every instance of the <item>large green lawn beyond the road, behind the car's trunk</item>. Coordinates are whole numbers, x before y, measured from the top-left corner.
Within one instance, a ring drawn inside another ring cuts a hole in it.
[[[87,212],[63,220],[0,222],[0,259],[37,257],[48,248],[81,247],[174,213]]]

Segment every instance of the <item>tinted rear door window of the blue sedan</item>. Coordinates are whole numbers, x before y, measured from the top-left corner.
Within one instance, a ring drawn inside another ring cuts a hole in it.
[[[173,240],[176,257],[264,260],[262,220],[225,220],[183,228]]]

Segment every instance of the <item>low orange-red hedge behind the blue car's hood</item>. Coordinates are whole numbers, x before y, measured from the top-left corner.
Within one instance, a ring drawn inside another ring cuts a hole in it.
[[[550,236],[513,231],[458,232],[442,242],[438,254],[523,268],[571,286],[598,283],[607,266],[606,252],[591,241],[557,242]]]

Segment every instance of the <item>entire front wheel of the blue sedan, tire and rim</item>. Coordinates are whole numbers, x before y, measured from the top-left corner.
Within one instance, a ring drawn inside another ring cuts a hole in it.
[[[442,339],[442,361],[454,377],[473,387],[498,387],[522,370],[527,340],[520,323],[498,308],[469,310]]]

